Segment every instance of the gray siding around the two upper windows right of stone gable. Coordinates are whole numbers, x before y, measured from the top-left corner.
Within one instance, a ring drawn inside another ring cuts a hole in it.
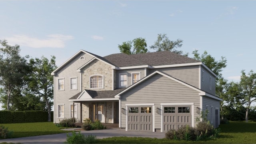
[[[145,69],[140,68],[140,69],[123,69],[123,70],[116,70],[116,87],[119,87],[119,74],[120,73],[127,73],[128,75],[128,87],[132,85],[132,73],[140,73],[140,79],[145,77]]]

